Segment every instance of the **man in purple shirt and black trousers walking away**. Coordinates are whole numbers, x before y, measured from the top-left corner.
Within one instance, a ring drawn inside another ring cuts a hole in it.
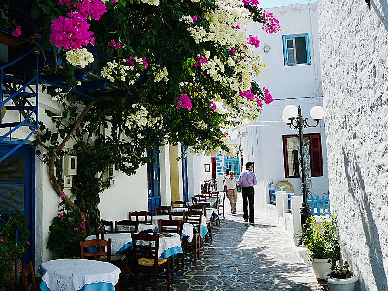
[[[258,182],[256,180],[253,170],[253,162],[247,162],[245,164],[246,170],[239,176],[239,186],[242,189],[242,205],[244,207],[244,221],[248,222],[251,226],[255,225],[255,216],[253,214],[253,201],[255,199],[255,186]],[[248,200],[249,200],[249,215],[248,215]]]

